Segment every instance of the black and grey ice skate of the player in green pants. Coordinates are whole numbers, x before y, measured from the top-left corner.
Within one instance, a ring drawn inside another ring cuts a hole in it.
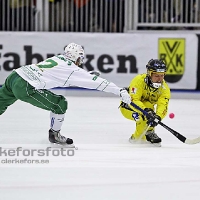
[[[74,148],[73,140],[66,138],[60,134],[60,131],[54,131],[53,129],[49,130],[49,141],[53,144],[63,145],[68,148]]]

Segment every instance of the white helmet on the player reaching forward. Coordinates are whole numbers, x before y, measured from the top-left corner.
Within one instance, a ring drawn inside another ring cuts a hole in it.
[[[75,64],[77,63],[78,65],[83,64],[85,52],[81,45],[70,43],[64,50],[64,56],[67,59],[73,61]]]

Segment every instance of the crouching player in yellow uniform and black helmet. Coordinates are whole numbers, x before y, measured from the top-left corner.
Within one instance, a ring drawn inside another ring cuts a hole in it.
[[[162,60],[151,59],[146,68],[146,74],[137,75],[132,79],[128,92],[133,103],[162,120],[167,114],[170,99],[170,89],[164,80],[166,65]],[[161,146],[161,138],[155,133],[157,123],[152,118],[147,119],[140,111],[123,102],[120,110],[125,118],[136,122],[136,130],[129,139],[130,143],[141,139]]]

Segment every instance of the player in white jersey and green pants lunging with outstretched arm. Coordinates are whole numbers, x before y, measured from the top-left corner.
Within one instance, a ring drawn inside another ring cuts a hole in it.
[[[79,67],[83,64],[84,54],[81,45],[70,43],[62,55],[53,56],[38,64],[25,65],[13,71],[0,88],[0,115],[18,99],[49,110],[51,120],[49,141],[73,146],[72,139],[60,134],[67,110],[67,100],[49,89],[70,86],[96,89],[120,96],[124,103],[131,102],[126,89]]]

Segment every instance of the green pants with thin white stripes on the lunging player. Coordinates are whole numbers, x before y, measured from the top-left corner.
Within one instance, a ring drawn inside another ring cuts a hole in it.
[[[64,96],[46,89],[38,90],[13,71],[0,88],[0,115],[18,99],[55,114],[64,114],[67,110]]]

